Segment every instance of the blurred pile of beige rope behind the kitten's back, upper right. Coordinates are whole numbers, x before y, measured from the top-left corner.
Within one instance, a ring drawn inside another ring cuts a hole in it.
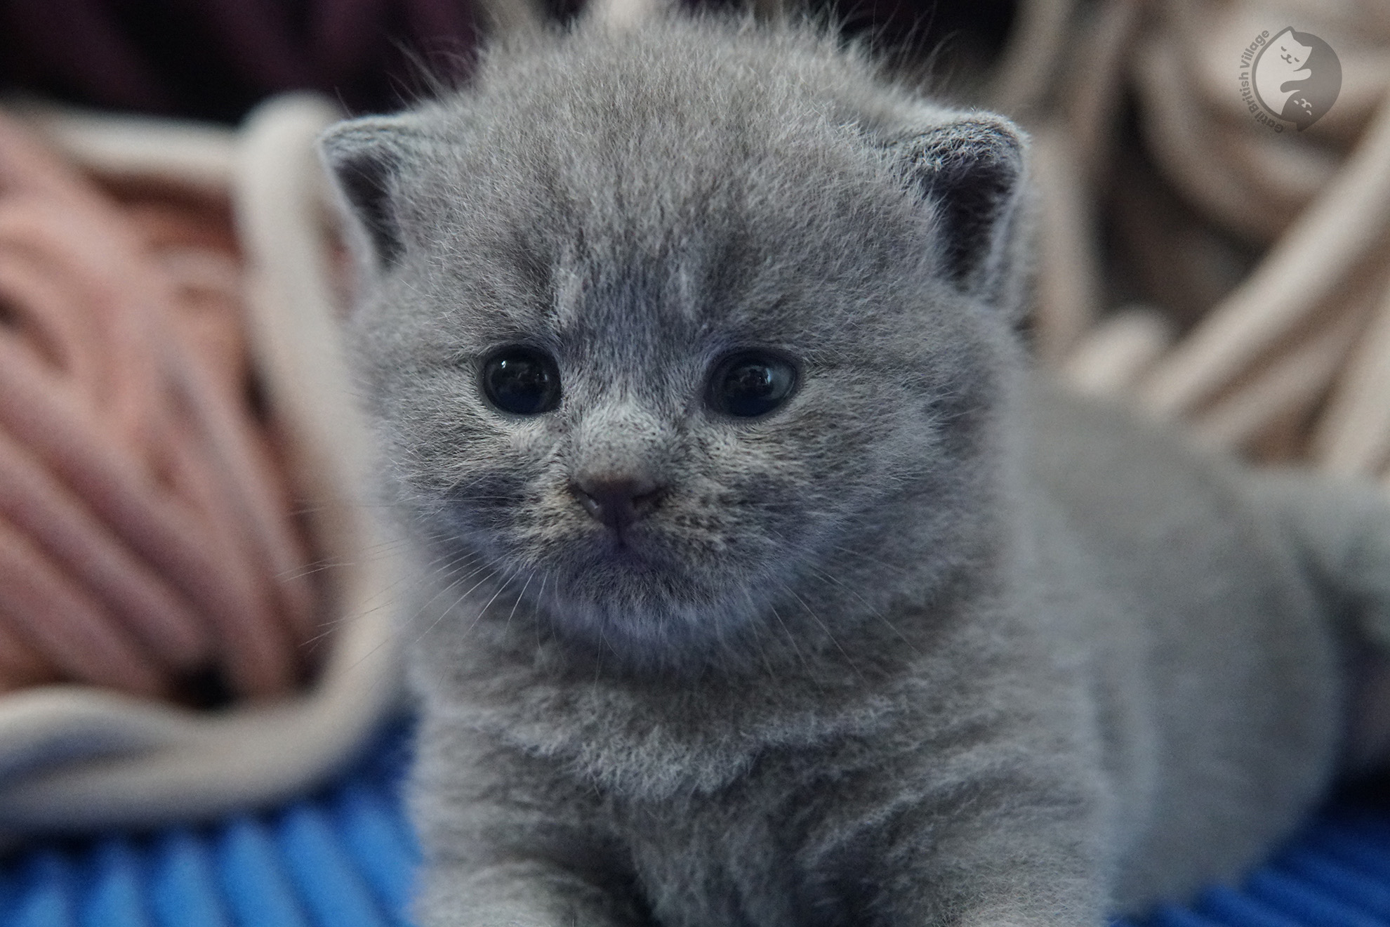
[[[1058,3],[1023,6],[1011,47],[1051,57],[1006,56],[994,86],[997,103],[1038,138],[1044,360],[1090,392],[1187,420],[1212,445],[1384,475],[1390,13],[1354,0],[1111,0],[1070,10],[1069,39],[1056,44]],[[1286,25],[1325,39],[1343,64],[1336,104],[1305,133],[1261,125],[1238,93],[1240,53],[1261,29]],[[1026,95],[1002,90],[1024,74],[1048,76]],[[1134,157],[1115,151],[1125,90],[1138,101],[1140,157],[1156,165],[1180,222],[1165,224],[1159,208],[1136,214],[1140,195],[1115,195],[1134,186]],[[1154,261],[1150,278],[1207,293],[1201,318],[1176,342],[1162,307],[1105,311],[1105,190],[1130,203],[1111,233]],[[1245,275],[1223,277],[1205,260],[1222,242],[1264,254]]]

